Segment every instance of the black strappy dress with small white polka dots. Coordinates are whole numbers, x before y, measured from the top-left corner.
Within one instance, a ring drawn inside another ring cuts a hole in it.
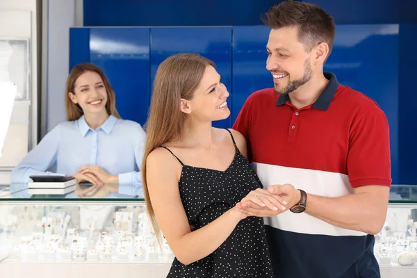
[[[234,160],[224,172],[184,165],[175,156],[183,165],[179,181],[181,201],[188,222],[195,229],[234,207],[251,190],[262,187],[250,163],[240,154],[235,142],[234,145]],[[167,278],[174,277],[273,277],[263,218],[240,220],[227,240],[204,259],[189,265],[174,259]]]

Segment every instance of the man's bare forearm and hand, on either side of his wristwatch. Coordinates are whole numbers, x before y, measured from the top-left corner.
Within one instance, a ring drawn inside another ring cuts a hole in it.
[[[268,191],[288,202],[286,211],[300,202],[300,190],[291,184],[268,187]],[[320,220],[336,227],[378,234],[381,231],[388,208],[388,186],[361,186],[354,194],[341,197],[321,197],[307,194],[306,211]],[[251,216],[275,216],[284,211],[271,211],[253,202],[242,202],[241,206]]]

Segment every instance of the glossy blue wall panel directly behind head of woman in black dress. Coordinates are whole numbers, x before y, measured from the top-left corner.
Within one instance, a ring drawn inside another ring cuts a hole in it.
[[[222,82],[231,92],[231,27],[152,28],[151,84],[158,65],[168,56],[190,52],[213,60]],[[232,97],[227,99],[229,108]],[[231,117],[213,122],[219,128],[231,127]]]

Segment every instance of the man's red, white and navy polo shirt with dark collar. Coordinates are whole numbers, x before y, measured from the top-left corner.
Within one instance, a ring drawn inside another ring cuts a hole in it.
[[[264,188],[291,183],[339,197],[359,186],[391,186],[384,112],[334,74],[325,76],[327,87],[304,108],[273,88],[254,92],[243,105],[233,128],[245,136]],[[379,277],[373,236],[291,211],[265,218],[265,225],[275,277]]]

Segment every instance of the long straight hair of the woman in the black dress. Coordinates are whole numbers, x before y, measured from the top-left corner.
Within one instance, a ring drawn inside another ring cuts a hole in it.
[[[156,72],[145,125],[147,140],[142,161],[142,182],[147,212],[159,242],[161,233],[147,188],[147,156],[157,147],[180,138],[187,117],[180,110],[181,99],[193,99],[208,65],[215,66],[211,60],[198,54],[176,54],[164,60]]]

